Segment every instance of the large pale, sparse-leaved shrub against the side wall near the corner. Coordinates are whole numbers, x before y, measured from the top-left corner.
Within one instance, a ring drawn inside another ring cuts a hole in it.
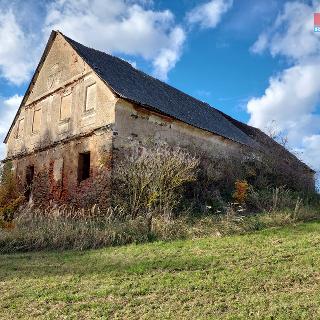
[[[127,150],[114,167],[113,204],[132,218],[154,213],[172,218],[198,165],[197,157],[167,145]]]

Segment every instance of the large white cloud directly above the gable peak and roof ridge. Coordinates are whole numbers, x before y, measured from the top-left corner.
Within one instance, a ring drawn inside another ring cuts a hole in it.
[[[46,33],[51,29],[102,51],[141,56],[162,79],[179,60],[185,41],[171,11],[153,11],[137,1],[55,1],[48,9]]]

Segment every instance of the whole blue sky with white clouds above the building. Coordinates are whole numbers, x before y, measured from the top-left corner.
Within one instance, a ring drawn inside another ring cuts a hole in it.
[[[236,119],[282,132],[319,170],[319,11],[320,0],[0,0],[0,138],[59,29]]]

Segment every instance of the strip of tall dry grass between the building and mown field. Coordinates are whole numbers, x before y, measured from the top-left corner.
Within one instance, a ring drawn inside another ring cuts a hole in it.
[[[38,250],[85,250],[155,240],[171,241],[206,236],[244,234],[270,227],[294,225],[317,220],[315,208],[279,210],[243,215],[232,206],[220,215],[192,217],[182,215],[168,219],[162,215],[148,219],[115,218],[114,211],[100,215],[83,210],[24,208],[14,220],[15,226],[0,232],[0,252]]]

